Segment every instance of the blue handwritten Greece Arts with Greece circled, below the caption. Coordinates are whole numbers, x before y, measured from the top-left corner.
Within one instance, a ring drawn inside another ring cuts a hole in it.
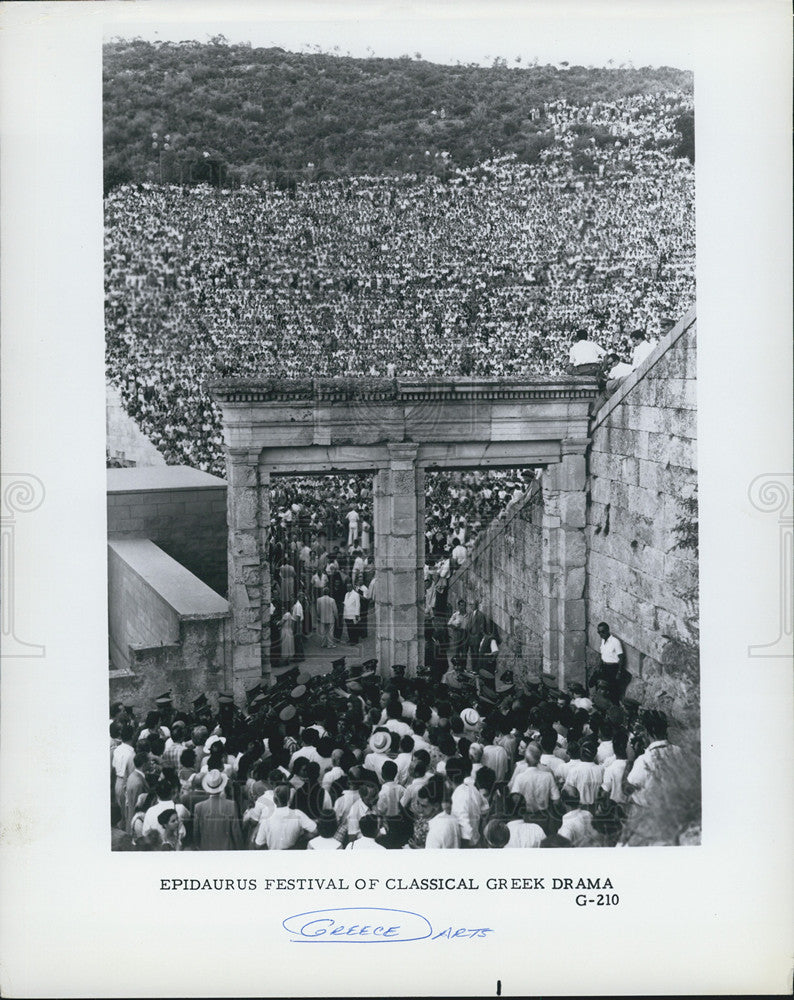
[[[490,927],[445,928],[436,934],[430,921],[411,910],[391,910],[377,906],[350,906],[341,909],[309,910],[282,921],[295,943],[386,944],[389,941],[423,941],[426,938],[482,938]]]

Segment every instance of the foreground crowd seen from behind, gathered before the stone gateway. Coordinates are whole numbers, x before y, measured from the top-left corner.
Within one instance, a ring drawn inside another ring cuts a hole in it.
[[[384,680],[375,661],[340,659],[326,677],[255,686],[245,708],[221,693],[215,711],[205,695],[177,711],[166,692],[139,721],[114,703],[114,850],[695,842],[692,762],[663,712],[625,697],[618,664],[605,657],[592,690],[497,693],[487,653],[458,652],[473,686],[428,672]]]

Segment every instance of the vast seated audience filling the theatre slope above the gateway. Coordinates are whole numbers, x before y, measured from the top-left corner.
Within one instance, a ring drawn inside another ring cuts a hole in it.
[[[628,362],[694,299],[687,108],[555,102],[539,163],[446,180],[114,189],[108,377],[168,462],[223,474],[213,377],[554,375],[579,329]]]

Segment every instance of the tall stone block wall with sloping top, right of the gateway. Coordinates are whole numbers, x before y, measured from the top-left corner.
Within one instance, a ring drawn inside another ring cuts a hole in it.
[[[588,457],[588,662],[623,641],[629,693],[697,711],[697,556],[678,546],[697,490],[696,322],[687,315],[595,412]]]

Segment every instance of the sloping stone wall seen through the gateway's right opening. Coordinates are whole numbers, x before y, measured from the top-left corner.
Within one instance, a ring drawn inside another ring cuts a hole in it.
[[[543,658],[541,573],[543,499],[533,484],[478,538],[468,561],[450,580],[452,609],[479,600],[499,630],[499,662],[516,679],[537,679]]]

